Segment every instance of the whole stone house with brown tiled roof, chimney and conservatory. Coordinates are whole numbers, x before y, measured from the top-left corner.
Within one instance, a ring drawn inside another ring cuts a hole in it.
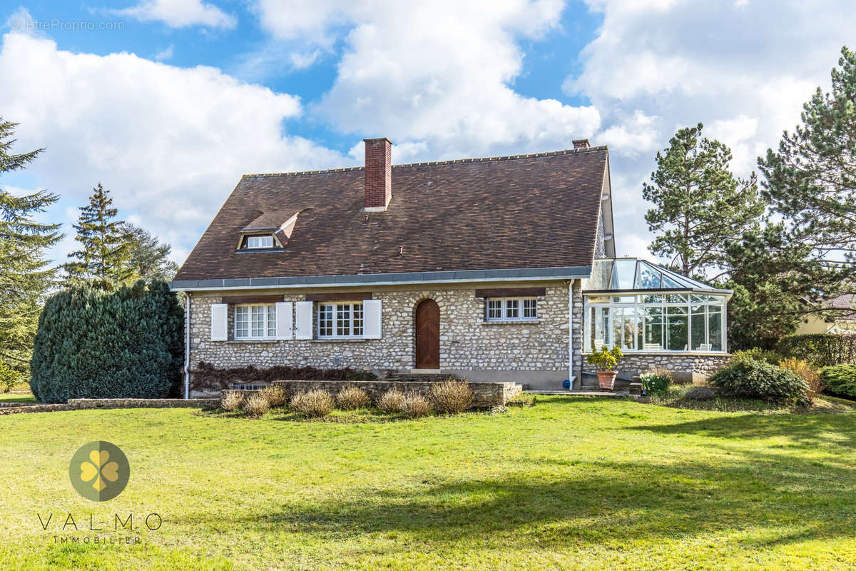
[[[692,377],[724,358],[730,292],[615,258],[605,146],[391,154],[368,139],[363,167],[241,178],[171,283],[187,294],[188,386],[200,361],[579,389],[603,343],[625,348],[625,373]]]

